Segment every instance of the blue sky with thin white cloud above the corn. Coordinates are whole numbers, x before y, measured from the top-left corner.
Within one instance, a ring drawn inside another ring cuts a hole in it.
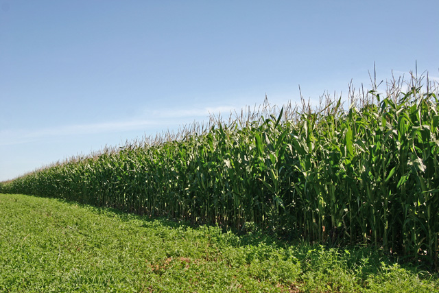
[[[439,77],[439,1],[0,0],[0,181],[242,106]]]

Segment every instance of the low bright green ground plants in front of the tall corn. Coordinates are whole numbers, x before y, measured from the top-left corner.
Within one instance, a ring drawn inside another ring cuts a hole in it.
[[[0,194],[0,292],[439,292],[370,247],[287,244]]]

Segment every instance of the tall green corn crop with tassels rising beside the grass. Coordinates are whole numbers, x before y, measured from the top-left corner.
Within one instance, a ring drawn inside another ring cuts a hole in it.
[[[323,95],[78,156],[1,185],[150,216],[366,245],[438,269],[438,84]]]

